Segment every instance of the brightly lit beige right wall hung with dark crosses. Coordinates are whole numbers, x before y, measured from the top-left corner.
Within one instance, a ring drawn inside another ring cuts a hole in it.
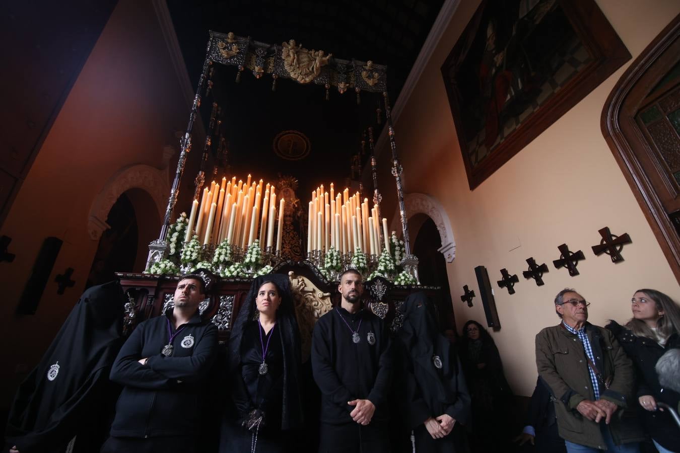
[[[680,12],[675,0],[597,3],[632,60]],[[659,289],[678,302],[680,289],[600,132],[602,107],[628,65],[470,191],[439,68],[478,4],[461,1],[398,118],[396,139],[406,192],[438,200],[452,224],[456,259],[447,270],[458,329],[469,319],[486,325],[480,297],[472,308],[460,302],[463,285],[479,295],[474,268],[486,266],[502,325],[492,336],[513,390],[530,395],[537,376],[534,336],[558,322],[552,300],[560,289],[574,287],[592,302],[590,321],[600,325],[610,318],[619,322],[630,318],[628,301],[637,288]],[[382,153],[379,160],[386,162],[386,157]],[[393,198],[393,178],[385,169],[381,185],[384,196]],[[390,217],[391,212],[386,214]],[[626,261],[614,265],[606,255],[592,253],[590,246],[599,242],[598,230],[604,226],[613,234],[630,234],[632,244],[622,253]],[[570,277],[552,265],[563,242],[572,251],[585,253],[579,276]],[[528,257],[548,264],[545,286],[523,278]],[[501,268],[520,278],[514,295],[495,283]]]

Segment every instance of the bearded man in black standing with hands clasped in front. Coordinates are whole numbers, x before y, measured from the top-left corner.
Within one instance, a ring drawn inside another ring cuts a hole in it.
[[[321,397],[320,452],[387,452],[390,338],[360,300],[362,277],[340,276],[341,303],[316,323],[311,366]]]

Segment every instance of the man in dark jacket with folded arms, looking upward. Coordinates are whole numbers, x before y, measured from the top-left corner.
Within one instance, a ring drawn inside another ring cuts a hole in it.
[[[175,306],[140,323],[116,357],[111,380],[124,385],[106,453],[190,453],[200,420],[199,399],[217,346],[217,328],[203,321],[205,283],[180,279]]]

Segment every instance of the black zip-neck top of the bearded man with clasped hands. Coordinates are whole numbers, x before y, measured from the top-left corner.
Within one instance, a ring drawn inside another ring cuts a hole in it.
[[[352,332],[340,316],[354,331],[358,329],[360,342],[352,342]],[[321,316],[312,336],[311,367],[322,393],[322,422],[352,422],[354,406],[347,401],[353,399],[368,399],[375,405],[373,420],[387,420],[392,351],[388,331],[378,316],[366,308],[351,314],[341,307]]]

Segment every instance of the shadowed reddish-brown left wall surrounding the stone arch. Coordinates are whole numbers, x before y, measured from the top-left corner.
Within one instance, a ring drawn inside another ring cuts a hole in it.
[[[99,243],[87,231],[95,197],[122,168],[160,166],[165,145],[177,151],[174,131],[184,130],[187,120],[188,106],[151,2],[120,1],[1,230],[12,238],[10,251],[16,259],[0,264],[5,339],[0,408],[9,405],[16,385],[35,366],[84,290]],[[148,196],[132,193],[131,199],[155,209]],[[140,222],[142,234],[152,229],[157,236],[158,212],[150,219],[155,225]],[[35,316],[17,316],[16,304],[48,236],[64,241],[50,280]],[[146,250],[141,253],[146,257]],[[57,295],[54,278],[69,267],[75,269],[75,286]]]

